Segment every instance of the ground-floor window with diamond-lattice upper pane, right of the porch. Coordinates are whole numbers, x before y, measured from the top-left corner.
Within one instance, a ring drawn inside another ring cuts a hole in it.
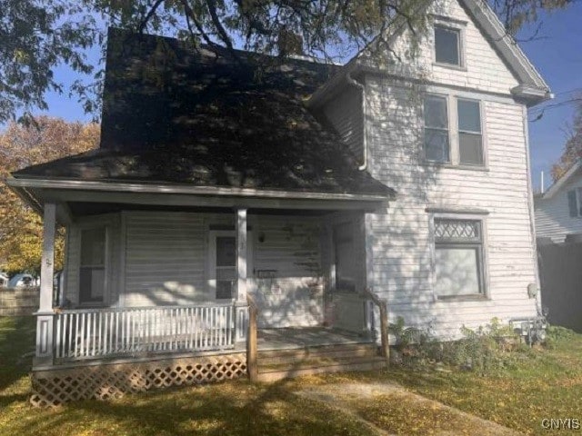
[[[483,223],[435,218],[435,292],[438,298],[485,295]]]

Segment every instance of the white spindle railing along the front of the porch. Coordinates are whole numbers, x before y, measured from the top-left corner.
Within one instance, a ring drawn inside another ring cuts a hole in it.
[[[57,312],[55,359],[231,349],[237,310],[232,303],[212,303]]]

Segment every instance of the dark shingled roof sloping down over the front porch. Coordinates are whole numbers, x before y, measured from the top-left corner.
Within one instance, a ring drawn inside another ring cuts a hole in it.
[[[337,67],[112,29],[101,147],[15,177],[390,195],[304,99]]]

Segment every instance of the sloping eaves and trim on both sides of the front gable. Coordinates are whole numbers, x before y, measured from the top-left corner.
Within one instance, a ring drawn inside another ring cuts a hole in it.
[[[465,9],[467,15],[473,19],[477,27],[481,29],[487,37],[487,41],[493,45],[499,57],[516,76],[519,84],[510,90],[511,93],[527,100],[529,104],[539,104],[552,98],[550,88],[544,78],[529,61],[519,45],[517,45],[516,40],[507,33],[505,26],[499,21],[496,13],[487,2],[480,0],[457,0],[457,2]],[[427,5],[430,5],[430,3]],[[427,5],[419,5],[417,14],[425,14]],[[406,28],[406,20],[401,19],[396,21],[387,31],[388,35],[386,37],[395,38],[406,30]],[[381,73],[379,68],[372,68],[368,63],[362,62],[366,50],[376,45],[378,41],[379,38],[376,38],[366,45],[341,70],[338,70],[334,77],[317,89],[309,99],[309,107],[317,107],[326,102],[329,95],[334,94],[336,88],[346,82],[346,74],[357,74],[370,70]]]

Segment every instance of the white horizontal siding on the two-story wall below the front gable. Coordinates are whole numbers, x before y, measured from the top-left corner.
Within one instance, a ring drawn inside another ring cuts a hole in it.
[[[487,126],[487,171],[435,166],[424,164],[416,152],[423,144],[424,123],[418,100],[410,98],[415,88],[366,76],[366,89],[371,106],[370,171],[398,193],[385,213],[371,216],[374,289],[386,298],[390,318],[403,316],[419,327],[430,324],[442,337],[452,337],[460,334],[463,324],[475,327],[496,316],[535,316],[535,300],[527,297],[527,285],[536,282],[536,254],[523,106],[475,95]],[[456,93],[451,91],[452,98]],[[487,214],[487,299],[436,299],[427,208]]]

